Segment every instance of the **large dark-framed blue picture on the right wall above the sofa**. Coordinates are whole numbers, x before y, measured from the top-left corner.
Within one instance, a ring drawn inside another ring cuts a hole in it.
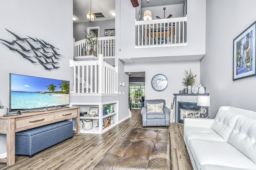
[[[233,42],[233,80],[255,76],[256,21]]]

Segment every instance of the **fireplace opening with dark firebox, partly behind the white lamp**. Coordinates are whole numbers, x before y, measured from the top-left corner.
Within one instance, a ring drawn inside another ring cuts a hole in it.
[[[178,123],[184,123],[187,114],[194,114],[199,111],[201,106],[197,106],[192,102],[178,102]]]

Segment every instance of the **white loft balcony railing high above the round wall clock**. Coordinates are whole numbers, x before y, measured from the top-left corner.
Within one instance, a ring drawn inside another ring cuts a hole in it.
[[[135,21],[135,48],[186,45],[187,17]]]

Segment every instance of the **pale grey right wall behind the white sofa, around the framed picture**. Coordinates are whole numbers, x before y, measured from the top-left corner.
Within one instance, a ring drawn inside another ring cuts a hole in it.
[[[255,0],[206,1],[206,55],[200,75],[211,96],[210,117],[220,106],[256,111],[256,76],[232,80],[233,40],[256,20],[255,6]]]

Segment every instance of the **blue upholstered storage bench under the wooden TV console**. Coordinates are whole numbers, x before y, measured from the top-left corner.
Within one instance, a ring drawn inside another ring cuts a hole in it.
[[[72,121],[60,121],[15,133],[15,154],[35,153],[73,137]]]

